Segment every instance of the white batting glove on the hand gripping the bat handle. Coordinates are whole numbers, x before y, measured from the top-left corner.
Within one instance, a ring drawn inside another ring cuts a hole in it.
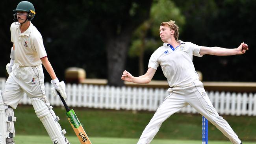
[[[67,94],[66,94],[66,87],[65,87],[65,83],[64,81],[59,82],[59,79],[53,79],[51,80],[51,83],[54,85],[54,87],[52,87],[52,95],[53,96],[57,96],[58,93],[56,92],[56,90],[61,94],[61,96],[66,99],[67,98]]]

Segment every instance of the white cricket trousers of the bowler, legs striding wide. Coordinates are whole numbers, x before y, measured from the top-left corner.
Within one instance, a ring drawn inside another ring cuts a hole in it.
[[[219,116],[206,94],[201,81],[196,80],[187,87],[169,88],[169,96],[158,107],[156,113],[144,129],[137,144],[149,144],[160,129],[161,124],[186,105],[191,105],[216,126],[233,144],[240,144],[241,140],[229,126],[228,122]]]

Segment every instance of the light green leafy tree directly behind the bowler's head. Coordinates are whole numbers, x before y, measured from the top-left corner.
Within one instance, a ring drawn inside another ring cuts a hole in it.
[[[161,22],[169,20],[176,20],[179,26],[185,23],[185,17],[171,0],[155,0],[150,9],[150,18],[136,29],[129,55],[139,57],[139,75],[145,73],[143,61],[145,50],[154,51],[160,46],[162,42],[158,28]]]

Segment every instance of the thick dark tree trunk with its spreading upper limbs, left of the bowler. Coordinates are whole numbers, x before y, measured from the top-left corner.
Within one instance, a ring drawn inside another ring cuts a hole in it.
[[[128,9],[119,7],[118,19],[111,16],[103,23],[107,37],[108,85],[116,87],[124,85],[121,76],[132,34],[137,26],[148,18],[152,4],[152,0],[127,2]]]

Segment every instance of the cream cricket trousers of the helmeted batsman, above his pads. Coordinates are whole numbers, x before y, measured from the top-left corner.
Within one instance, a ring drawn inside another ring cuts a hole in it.
[[[6,81],[3,94],[4,103],[16,109],[24,92],[29,98],[41,98],[43,101],[47,101],[44,79],[42,65],[19,66],[14,64]]]

